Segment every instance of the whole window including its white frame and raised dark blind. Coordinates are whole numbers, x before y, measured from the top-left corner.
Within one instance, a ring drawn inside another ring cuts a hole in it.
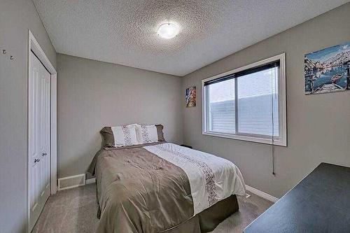
[[[286,146],[285,54],[202,80],[203,134]]]

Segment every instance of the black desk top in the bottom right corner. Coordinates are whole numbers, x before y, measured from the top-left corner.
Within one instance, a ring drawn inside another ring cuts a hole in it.
[[[350,168],[321,163],[244,233],[350,232]]]

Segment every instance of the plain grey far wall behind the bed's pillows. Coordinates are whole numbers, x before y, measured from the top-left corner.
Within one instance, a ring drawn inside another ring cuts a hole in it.
[[[57,176],[85,173],[104,126],[160,123],[182,143],[181,78],[57,55]]]

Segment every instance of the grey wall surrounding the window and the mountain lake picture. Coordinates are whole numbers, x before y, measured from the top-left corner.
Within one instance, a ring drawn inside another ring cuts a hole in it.
[[[304,94],[304,54],[350,41],[350,3],[205,66],[183,78],[182,91],[197,86],[197,107],[183,108],[183,140],[225,157],[248,185],[281,197],[320,162],[350,167],[350,91]],[[277,19],[278,20],[278,19]],[[235,43],[232,41],[232,43]],[[202,135],[201,80],[286,52],[288,147]]]

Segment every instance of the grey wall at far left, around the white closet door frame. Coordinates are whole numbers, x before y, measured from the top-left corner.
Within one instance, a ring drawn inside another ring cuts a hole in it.
[[[1,0],[0,9],[0,232],[13,233],[27,220],[27,30],[53,66],[56,52],[31,1]]]

